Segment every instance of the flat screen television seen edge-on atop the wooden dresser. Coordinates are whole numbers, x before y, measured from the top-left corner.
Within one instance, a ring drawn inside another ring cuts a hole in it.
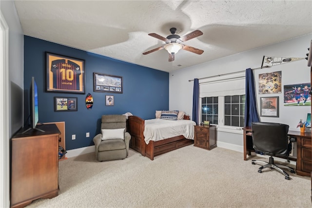
[[[30,128],[28,128],[23,133],[31,129],[36,129],[39,130],[40,132],[44,132],[43,130],[37,128],[37,124],[39,123],[38,87],[34,76],[31,79],[29,100],[30,100]]]

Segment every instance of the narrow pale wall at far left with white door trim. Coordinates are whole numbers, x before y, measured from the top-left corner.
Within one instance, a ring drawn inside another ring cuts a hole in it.
[[[4,106],[7,108],[7,115],[5,118],[1,118],[1,129],[6,130],[3,141],[0,143],[1,151],[1,167],[0,167],[0,207],[10,206],[10,173],[9,173],[9,140],[15,132],[17,132],[23,125],[23,85],[24,85],[24,36],[20,25],[20,20],[17,15],[17,11],[14,5],[14,1],[0,1],[1,8],[1,24],[5,22],[8,27],[5,29],[5,34],[1,33],[1,44],[3,49],[1,51],[1,60],[5,59],[5,63],[1,63],[4,67],[1,67],[1,74],[8,75],[8,80],[3,80],[4,86],[1,89],[1,102],[4,102]],[[1,32],[3,32],[1,30]],[[8,35],[6,35],[8,34]],[[8,37],[3,38],[3,37]],[[8,51],[8,53],[7,53]],[[6,54],[4,54],[6,53]],[[3,78],[3,77],[1,77]],[[6,82],[7,81],[7,82]],[[4,84],[5,82],[5,84]],[[2,106],[2,105],[1,105]],[[4,121],[4,122],[3,122]],[[3,126],[3,128],[2,128]],[[3,133],[3,132],[1,132]],[[3,145],[2,145],[3,144]]]

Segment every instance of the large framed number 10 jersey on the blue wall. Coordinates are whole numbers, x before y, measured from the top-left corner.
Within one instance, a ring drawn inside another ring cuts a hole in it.
[[[45,53],[47,92],[85,94],[84,60]]]

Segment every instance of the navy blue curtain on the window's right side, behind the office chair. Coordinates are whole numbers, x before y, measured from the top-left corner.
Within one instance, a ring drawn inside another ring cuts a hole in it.
[[[245,95],[245,126],[251,126],[251,122],[259,121],[257,112],[256,95],[254,88],[254,73],[251,68],[246,69],[246,95]]]

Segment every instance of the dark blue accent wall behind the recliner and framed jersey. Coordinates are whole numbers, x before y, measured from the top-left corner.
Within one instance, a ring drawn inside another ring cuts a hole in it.
[[[83,40],[81,40],[83,41]],[[46,92],[45,52],[85,60],[85,94]],[[93,91],[93,73],[123,77],[123,93]],[[155,118],[156,110],[169,108],[169,73],[100,56],[57,43],[24,36],[24,120],[29,116],[31,77],[38,85],[39,122],[65,121],[66,150],[94,145],[100,132],[101,115],[133,113],[143,119]],[[85,105],[86,95],[93,95],[92,110]],[[105,106],[105,95],[114,95],[114,106]],[[54,97],[77,97],[78,111],[55,112]],[[29,122],[27,122],[29,123]],[[86,132],[90,137],[86,138]],[[72,140],[76,134],[76,140]]]

